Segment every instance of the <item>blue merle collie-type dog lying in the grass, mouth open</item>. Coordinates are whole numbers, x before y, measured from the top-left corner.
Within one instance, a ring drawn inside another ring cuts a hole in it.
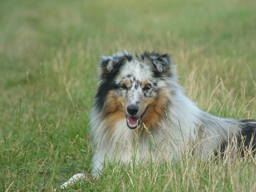
[[[90,119],[91,174],[76,174],[60,188],[98,178],[104,163],[160,161],[191,154],[246,156],[254,151],[256,120],[219,118],[200,110],[177,84],[169,54],[144,51],[102,56]]]

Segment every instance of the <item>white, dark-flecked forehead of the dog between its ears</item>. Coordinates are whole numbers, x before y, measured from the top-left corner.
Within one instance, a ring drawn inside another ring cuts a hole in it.
[[[152,69],[147,62],[140,62],[138,60],[132,60],[126,62],[120,69],[120,73],[117,76],[117,80],[130,78],[136,80],[149,80],[152,77]]]

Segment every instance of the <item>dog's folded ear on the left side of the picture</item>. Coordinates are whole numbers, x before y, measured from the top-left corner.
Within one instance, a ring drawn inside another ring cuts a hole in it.
[[[127,52],[126,50],[122,52],[117,52],[112,56],[102,56],[100,57],[100,67],[102,74],[113,74],[120,66],[122,66],[126,61],[131,61],[133,59],[133,54]]]

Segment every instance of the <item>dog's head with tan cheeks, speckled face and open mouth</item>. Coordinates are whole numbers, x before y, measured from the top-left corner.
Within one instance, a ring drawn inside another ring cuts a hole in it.
[[[152,126],[164,115],[168,102],[166,87],[174,76],[168,54],[143,52],[133,60],[130,52],[102,56],[96,106],[104,115],[125,118],[130,129],[142,123]]]

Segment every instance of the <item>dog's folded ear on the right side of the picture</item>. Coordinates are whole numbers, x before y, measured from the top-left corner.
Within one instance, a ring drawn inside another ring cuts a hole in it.
[[[150,53],[145,51],[136,56],[140,61],[150,60],[154,66],[154,70],[159,74],[170,72],[171,60],[169,54],[159,54],[158,52]]]

